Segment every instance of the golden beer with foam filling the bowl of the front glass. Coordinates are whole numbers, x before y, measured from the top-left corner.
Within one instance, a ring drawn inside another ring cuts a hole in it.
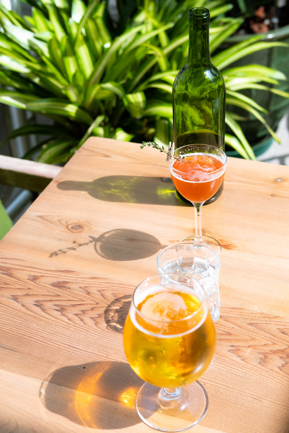
[[[166,286],[150,287],[132,303],[123,346],[140,378],[161,388],[178,388],[208,368],[216,335],[206,305],[192,289]]]

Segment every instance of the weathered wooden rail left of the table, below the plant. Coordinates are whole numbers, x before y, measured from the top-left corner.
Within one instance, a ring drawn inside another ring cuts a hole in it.
[[[0,155],[0,184],[43,191],[62,170],[57,165]]]

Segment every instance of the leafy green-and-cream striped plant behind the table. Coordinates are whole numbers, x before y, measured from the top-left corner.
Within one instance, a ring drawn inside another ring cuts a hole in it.
[[[225,0],[119,1],[116,20],[107,1],[26,1],[32,14],[23,18],[0,4],[0,102],[54,121],[54,126],[28,124],[8,137],[46,135],[25,157],[38,152],[40,162],[52,164],[66,162],[91,135],[167,145],[172,84],[188,58],[188,10],[210,10],[211,54],[242,22],[224,17],[231,9]],[[252,113],[279,141],[263,119],[266,110],[241,90],[262,88],[289,97],[277,88],[285,76],[260,65],[229,68],[268,44],[284,45],[253,36],[218,52],[212,62],[224,76],[227,104]],[[225,141],[244,158],[254,159],[240,119],[226,113],[234,135],[226,134]]]

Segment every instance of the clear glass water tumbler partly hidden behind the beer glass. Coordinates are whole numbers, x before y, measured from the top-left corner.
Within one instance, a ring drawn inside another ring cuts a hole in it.
[[[177,273],[198,281],[214,322],[220,317],[218,253],[206,244],[179,242],[164,248],[156,259],[160,274]]]

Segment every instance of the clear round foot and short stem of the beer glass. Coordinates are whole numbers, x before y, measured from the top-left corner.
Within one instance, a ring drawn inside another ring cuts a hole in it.
[[[158,388],[145,382],[136,394],[144,423],[163,432],[180,432],[199,423],[208,410],[208,395],[198,382],[181,388]]]

